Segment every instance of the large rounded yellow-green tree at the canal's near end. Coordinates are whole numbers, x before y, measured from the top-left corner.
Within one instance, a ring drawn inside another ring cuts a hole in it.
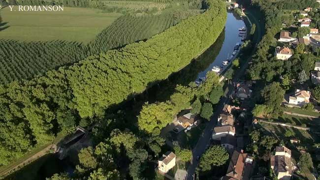
[[[156,127],[162,129],[172,122],[173,117],[174,112],[170,103],[146,103],[138,116],[138,125],[141,130],[152,133]]]

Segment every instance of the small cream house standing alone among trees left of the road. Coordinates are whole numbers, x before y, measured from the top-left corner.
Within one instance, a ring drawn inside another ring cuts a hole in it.
[[[171,151],[167,151],[158,160],[158,169],[160,173],[167,173],[171,168],[176,165],[176,154]]]

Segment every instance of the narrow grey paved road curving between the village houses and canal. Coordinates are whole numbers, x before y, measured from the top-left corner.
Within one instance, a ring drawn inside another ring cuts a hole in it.
[[[257,20],[254,17],[249,17],[249,18],[251,19],[251,21],[257,22]],[[257,24],[257,29],[256,30],[258,31],[257,32],[258,33],[258,39],[260,40],[262,38],[263,32],[261,32],[261,28],[259,27],[258,24]],[[198,140],[197,145],[192,150],[192,157],[193,158],[192,158],[191,164],[190,164],[190,166],[188,167],[188,170],[187,170],[187,173],[188,173],[187,174],[187,179],[188,180],[193,180],[193,175],[194,175],[194,172],[195,172],[195,168],[198,165],[198,161],[196,160],[196,157],[197,156],[201,156],[202,153],[206,150],[206,148],[208,146],[210,146],[210,139],[211,139],[211,135],[212,135],[212,130],[217,124],[217,120],[218,120],[219,114],[222,111],[222,109],[224,107],[224,104],[228,103],[228,101],[229,101],[230,94],[234,90],[233,84],[236,83],[238,79],[240,79],[241,77],[244,76],[245,70],[249,66],[249,61],[250,60],[251,60],[251,58],[246,61],[246,63],[241,67],[241,69],[239,71],[237,71],[237,73],[234,75],[232,81],[230,81],[228,83],[228,86],[224,91],[224,96],[220,99],[220,101],[219,101],[219,103],[218,103],[218,105],[217,105],[217,107],[215,109],[215,112],[214,112],[213,116],[211,117],[211,120],[207,123],[205,129],[203,130],[203,133],[202,133],[201,137]]]

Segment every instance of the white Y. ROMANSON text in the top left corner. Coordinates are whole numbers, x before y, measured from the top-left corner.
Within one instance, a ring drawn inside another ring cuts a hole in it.
[[[9,5],[10,11],[64,11],[62,5],[18,5],[18,9],[14,5]]]

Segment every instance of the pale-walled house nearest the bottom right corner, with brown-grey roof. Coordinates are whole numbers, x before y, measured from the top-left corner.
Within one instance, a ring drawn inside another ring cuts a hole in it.
[[[270,166],[278,180],[290,180],[292,176],[291,150],[276,147],[275,155],[270,157]]]

